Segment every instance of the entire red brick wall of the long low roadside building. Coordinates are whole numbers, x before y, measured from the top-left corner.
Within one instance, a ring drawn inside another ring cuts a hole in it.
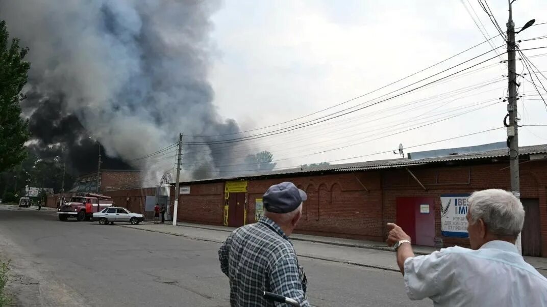
[[[432,197],[435,198],[435,235],[442,238],[441,194],[472,193],[486,188],[509,190],[507,162],[463,167],[415,166],[410,170],[427,191],[406,169],[249,180],[246,223],[255,222],[255,199],[261,198],[268,187],[292,181],[308,194],[296,233],[383,241],[386,223],[397,220],[397,197]],[[224,182],[190,184],[190,194],[180,198],[178,219],[222,225],[223,191]],[[521,165],[521,198],[539,199],[542,249],[547,256],[547,161]],[[443,240],[445,246],[468,244],[467,239],[461,238]]]

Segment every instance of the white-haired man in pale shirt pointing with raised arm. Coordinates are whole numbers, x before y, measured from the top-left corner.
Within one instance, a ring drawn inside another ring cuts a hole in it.
[[[411,238],[388,223],[387,244],[395,246],[409,298],[430,298],[435,306],[547,306],[547,279],[515,246],[525,214],[520,200],[491,189],[473,193],[468,202],[471,249],[415,257]]]

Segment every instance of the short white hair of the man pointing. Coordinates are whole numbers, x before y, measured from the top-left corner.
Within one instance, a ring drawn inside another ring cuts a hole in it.
[[[513,193],[490,189],[474,192],[469,201],[472,223],[482,219],[494,235],[517,236],[524,224],[524,208]]]

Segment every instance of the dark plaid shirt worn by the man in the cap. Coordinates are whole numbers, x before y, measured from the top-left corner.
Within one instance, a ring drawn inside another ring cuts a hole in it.
[[[220,268],[230,279],[232,306],[274,306],[263,298],[263,291],[309,306],[306,274],[298,265],[293,244],[267,217],[237,228],[220,246],[218,255]],[[286,304],[275,303],[275,306]]]

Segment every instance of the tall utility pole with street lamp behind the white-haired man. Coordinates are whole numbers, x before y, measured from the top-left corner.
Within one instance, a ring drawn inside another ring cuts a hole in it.
[[[507,58],[508,58],[508,88],[509,97],[507,111],[509,113],[509,124],[507,127],[507,141],[509,143],[509,167],[511,173],[511,192],[520,198],[520,175],[519,175],[519,119],[517,114],[517,84],[516,82],[516,62],[515,62],[515,23],[513,22],[513,10],[509,2],[509,20],[507,21]],[[516,239],[515,245],[522,254],[522,244],[520,233]]]

